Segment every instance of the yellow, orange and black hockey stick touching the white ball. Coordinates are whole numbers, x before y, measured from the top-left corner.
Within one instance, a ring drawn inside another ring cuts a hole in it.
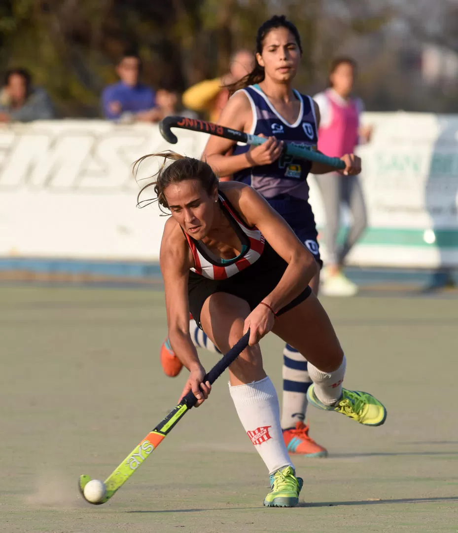
[[[250,330],[239,340],[238,343],[233,346],[210,370],[210,372],[203,378],[203,383],[207,381],[210,384],[214,383],[218,377],[223,374],[224,370],[231,365],[233,361],[239,356],[239,354],[248,346],[250,338]],[[188,392],[178,403],[175,409],[160,422],[146,437],[140,442],[140,444],[130,453],[124,461],[114,470],[109,477],[105,480],[105,495],[98,502],[89,502],[94,505],[100,505],[108,502],[113,494],[122,487],[122,485],[130,478],[130,476],[138,469],[138,467],[145,461],[145,459],[154,451],[166,435],[175,427],[181,418],[189,411],[197,402],[192,391]],[[91,481],[88,475],[81,475],[79,478],[79,490],[83,498],[84,487]],[[88,502],[89,500],[86,499]]]

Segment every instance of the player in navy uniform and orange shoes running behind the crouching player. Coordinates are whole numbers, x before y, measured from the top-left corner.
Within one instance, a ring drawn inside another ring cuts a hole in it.
[[[219,123],[267,136],[268,142],[249,149],[248,146],[234,147],[232,141],[211,137],[204,158],[219,175],[232,174],[234,180],[250,184],[260,192],[288,222],[321,266],[306,179],[310,171],[318,174],[330,172],[333,168],[281,155],[283,141],[316,146],[320,122],[318,108],[310,96],[292,88],[302,53],[298,30],[284,17],[273,17],[259,28],[256,49],[255,68],[231,87],[235,94],[223,110]],[[227,156],[231,150],[232,155]],[[346,161],[352,158],[351,155],[342,157]],[[354,172],[352,169],[351,175]],[[318,292],[319,278],[318,271],[310,282],[315,294]],[[191,321],[190,328],[194,345],[211,348],[211,343],[203,332],[199,332],[195,322]],[[181,368],[167,341],[162,346],[161,361],[168,375],[175,375]],[[312,383],[307,372],[307,361],[288,344],[283,350],[282,374],[281,421],[289,453],[309,457],[326,456],[326,449],[309,437],[309,427],[304,424],[307,389]]]

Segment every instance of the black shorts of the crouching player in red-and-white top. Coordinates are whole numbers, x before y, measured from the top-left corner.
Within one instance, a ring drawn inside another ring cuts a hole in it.
[[[248,303],[252,311],[279,284],[287,266],[288,263],[266,241],[259,259],[230,278],[209,279],[191,271],[187,287],[193,319],[202,329],[200,312],[203,303],[214,293],[238,296]],[[310,293],[312,289],[307,286],[292,302],[280,309],[277,315],[289,311],[308,298]]]

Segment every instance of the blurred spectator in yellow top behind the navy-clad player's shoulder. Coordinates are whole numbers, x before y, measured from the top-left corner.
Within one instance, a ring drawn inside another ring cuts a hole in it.
[[[225,85],[234,83],[246,76],[255,65],[255,58],[249,50],[239,50],[231,58],[230,71],[220,78],[206,79],[183,93],[185,107],[206,115],[217,122],[226,105],[229,93]]]

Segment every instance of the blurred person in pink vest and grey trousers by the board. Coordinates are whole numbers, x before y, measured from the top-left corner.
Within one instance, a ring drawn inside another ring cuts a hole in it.
[[[351,95],[356,74],[356,62],[347,57],[332,61],[329,85],[314,96],[320,108],[321,122],[318,130],[318,150],[333,157],[353,154],[360,142],[368,142],[372,127],[362,127],[359,116],[363,102]],[[328,265],[322,271],[322,294],[329,296],[353,296],[358,287],[342,273],[346,255],[366,228],[367,217],[363,191],[358,176],[346,176],[337,172],[315,176],[323,198],[326,216],[324,243],[328,252]],[[338,246],[340,207],[347,204],[351,214],[351,226],[345,243]],[[324,274],[324,275],[323,275]]]

